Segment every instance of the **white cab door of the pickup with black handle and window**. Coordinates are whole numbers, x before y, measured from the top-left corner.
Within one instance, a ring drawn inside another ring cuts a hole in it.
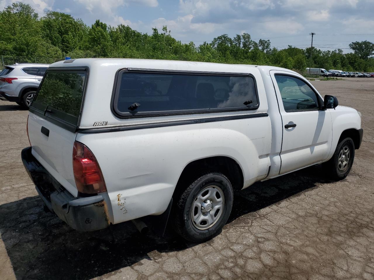
[[[270,71],[282,117],[281,169],[285,174],[327,159],[332,141],[329,111],[304,78],[287,71]]]

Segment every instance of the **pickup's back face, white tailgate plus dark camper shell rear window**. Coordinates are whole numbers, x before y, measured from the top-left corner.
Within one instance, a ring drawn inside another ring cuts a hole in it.
[[[28,118],[32,155],[74,196],[73,146],[86,77],[85,70],[47,69]]]

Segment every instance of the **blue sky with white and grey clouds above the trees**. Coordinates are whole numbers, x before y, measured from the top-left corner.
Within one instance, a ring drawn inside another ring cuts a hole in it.
[[[24,0],[40,16],[65,12],[87,25],[95,19],[151,33],[167,25],[183,43],[247,32],[282,49],[291,44],[349,52],[352,41],[374,41],[374,0]],[[0,0],[0,9],[12,3]]]

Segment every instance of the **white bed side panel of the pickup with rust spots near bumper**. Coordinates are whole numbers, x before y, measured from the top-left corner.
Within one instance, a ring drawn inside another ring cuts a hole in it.
[[[244,186],[266,177],[271,126],[268,116],[158,128],[78,134],[104,175],[114,223],[168,206],[184,167],[211,156],[228,156],[242,168]]]

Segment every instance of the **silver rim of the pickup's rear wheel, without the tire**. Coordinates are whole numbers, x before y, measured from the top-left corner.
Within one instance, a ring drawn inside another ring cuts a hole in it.
[[[212,227],[220,219],[225,206],[223,191],[218,186],[202,189],[193,200],[191,220],[199,230]]]

